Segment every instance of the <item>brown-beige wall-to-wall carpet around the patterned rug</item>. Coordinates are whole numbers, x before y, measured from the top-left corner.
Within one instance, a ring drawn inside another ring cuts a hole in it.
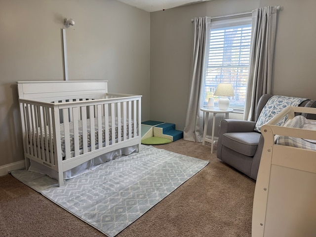
[[[155,146],[210,163],[117,237],[250,237],[255,182],[210,154],[210,146],[178,140]],[[104,237],[22,184],[0,177],[0,236]]]

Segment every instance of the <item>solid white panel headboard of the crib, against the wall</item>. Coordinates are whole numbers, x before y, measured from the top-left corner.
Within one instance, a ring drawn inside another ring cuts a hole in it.
[[[107,80],[17,81],[19,99],[51,102],[76,97],[105,98]]]

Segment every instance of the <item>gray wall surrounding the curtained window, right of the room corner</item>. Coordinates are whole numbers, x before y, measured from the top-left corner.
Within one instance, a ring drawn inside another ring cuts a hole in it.
[[[150,118],[185,125],[191,70],[191,19],[280,5],[273,93],[316,99],[315,0],[211,0],[151,13]],[[242,118],[231,114],[230,118]]]

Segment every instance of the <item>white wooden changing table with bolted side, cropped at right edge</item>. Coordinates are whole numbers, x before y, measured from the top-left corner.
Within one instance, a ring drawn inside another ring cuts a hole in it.
[[[316,236],[316,120],[286,107],[261,127],[264,147],[252,212],[253,237]],[[285,116],[284,126],[277,126]]]

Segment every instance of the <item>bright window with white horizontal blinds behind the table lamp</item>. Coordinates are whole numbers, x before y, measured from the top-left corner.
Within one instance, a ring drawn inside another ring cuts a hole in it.
[[[249,73],[251,17],[211,21],[205,74],[205,106],[219,83],[232,83],[230,107],[243,110]],[[215,103],[216,100],[215,97]]]

